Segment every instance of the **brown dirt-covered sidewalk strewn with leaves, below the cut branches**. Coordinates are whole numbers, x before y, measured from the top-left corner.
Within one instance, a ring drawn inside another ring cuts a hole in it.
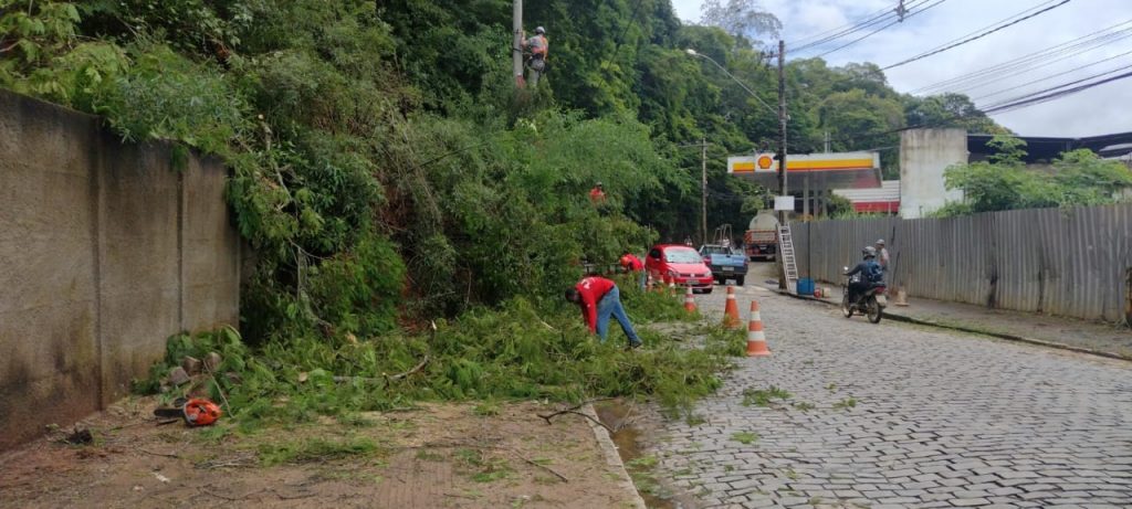
[[[436,404],[243,433],[157,424],[134,398],[0,454],[0,507],[633,507],[585,419],[557,405]],[[565,480],[564,480],[565,478]]]

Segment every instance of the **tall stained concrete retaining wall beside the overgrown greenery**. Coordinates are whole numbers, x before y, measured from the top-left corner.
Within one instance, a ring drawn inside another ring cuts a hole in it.
[[[0,90],[0,449],[126,395],[180,330],[235,325],[226,171]]]

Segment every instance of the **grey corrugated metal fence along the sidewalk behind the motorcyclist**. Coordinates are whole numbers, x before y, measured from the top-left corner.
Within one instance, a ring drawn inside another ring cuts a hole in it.
[[[838,283],[885,239],[909,296],[1132,321],[1132,206],[794,223],[803,276]]]

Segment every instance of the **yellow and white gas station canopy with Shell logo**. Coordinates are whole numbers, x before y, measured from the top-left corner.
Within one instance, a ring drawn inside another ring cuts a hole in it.
[[[790,190],[800,191],[806,181],[812,191],[881,187],[881,154],[876,152],[789,154],[786,166],[787,189]],[[753,180],[769,189],[778,188],[778,167],[773,153],[727,158],[728,173]]]

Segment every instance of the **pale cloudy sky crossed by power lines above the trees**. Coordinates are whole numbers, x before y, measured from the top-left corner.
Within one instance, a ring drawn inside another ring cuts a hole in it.
[[[1047,1],[1049,0],[945,0],[923,14],[908,18],[902,24],[886,28],[844,50],[834,52],[825,59],[833,66],[861,61],[874,62],[882,67],[889,66],[949,41],[961,38],[971,32]],[[691,21],[700,20],[700,6],[702,3],[702,0],[672,0],[677,16]],[[895,7],[897,3],[897,0],[762,1],[766,10],[782,20],[784,26],[782,35],[787,41],[788,57],[790,57],[791,41],[804,40],[868,18],[869,15],[881,9]],[[906,3],[914,5],[914,1],[906,0]],[[978,41],[890,69],[885,74],[889,83],[897,90],[907,93],[925,85],[977,71],[1130,20],[1132,20],[1132,1],[1130,0],[1071,0],[1064,6]],[[852,34],[842,40],[841,43],[873,29],[875,28]],[[816,49],[804,51],[796,57],[813,57],[837,45],[825,46],[821,51]],[[951,92],[963,92],[971,97],[978,97],[1127,52],[1132,52],[1132,37],[1052,63],[1048,67],[1021,72],[1001,81],[988,83],[979,88]],[[1127,66],[1132,66],[1132,53],[976,102],[986,105],[1018,94],[1048,88]],[[1023,136],[1079,137],[1132,131],[1132,107],[1130,106],[1132,106],[1132,78],[1101,85],[1054,102],[993,117],[998,123]]]

